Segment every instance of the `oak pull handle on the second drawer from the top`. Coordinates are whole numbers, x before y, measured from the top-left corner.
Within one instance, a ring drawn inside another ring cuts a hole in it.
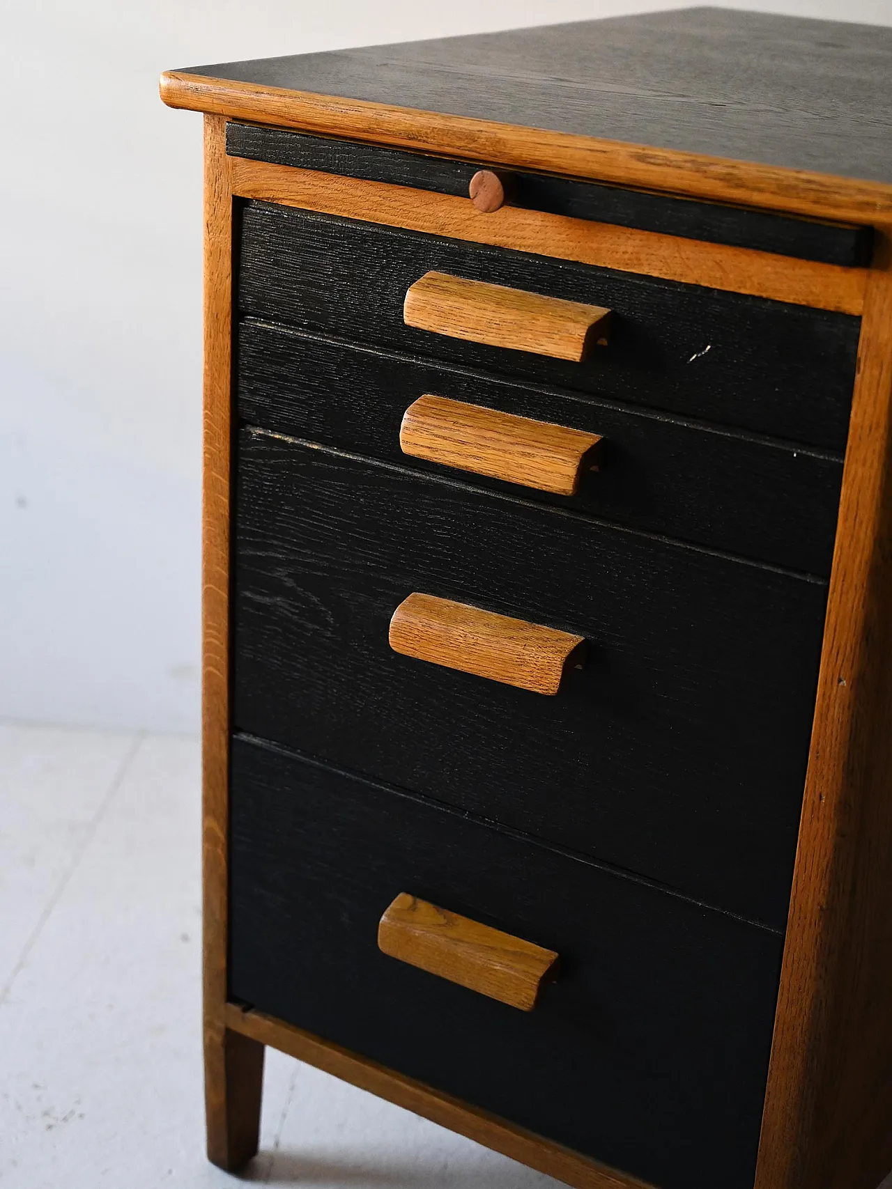
[[[444,396],[420,396],[400,427],[404,454],[558,496],[576,495],[599,441],[598,434]]]

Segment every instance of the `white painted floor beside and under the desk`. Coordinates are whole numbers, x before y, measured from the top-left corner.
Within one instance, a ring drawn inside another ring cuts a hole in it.
[[[0,724],[2,1189],[221,1189],[199,1027],[199,749]],[[557,1182],[268,1051],[243,1179],[312,1189]]]

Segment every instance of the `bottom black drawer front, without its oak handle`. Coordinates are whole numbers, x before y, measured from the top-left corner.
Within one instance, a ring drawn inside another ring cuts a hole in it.
[[[664,1189],[749,1189],[778,936],[237,738],[230,994]],[[521,1012],[382,955],[400,892],[554,949]]]

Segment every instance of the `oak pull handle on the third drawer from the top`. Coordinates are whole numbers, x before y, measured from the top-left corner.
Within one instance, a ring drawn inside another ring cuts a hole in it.
[[[585,649],[584,636],[419,593],[394,611],[389,641],[403,656],[547,694]]]

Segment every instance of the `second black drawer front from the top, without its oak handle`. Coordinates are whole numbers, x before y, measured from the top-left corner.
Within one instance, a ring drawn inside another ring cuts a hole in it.
[[[601,468],[577,497],[465,474],[472,483],[792,570],[830,572],[842,479],[836,455],[281,326],[247,320],[239,328],[239,415],[266,429],[406,464],[400,422],[427,392],[605,438]],[[463,477],[416,459],[408,465]]]

